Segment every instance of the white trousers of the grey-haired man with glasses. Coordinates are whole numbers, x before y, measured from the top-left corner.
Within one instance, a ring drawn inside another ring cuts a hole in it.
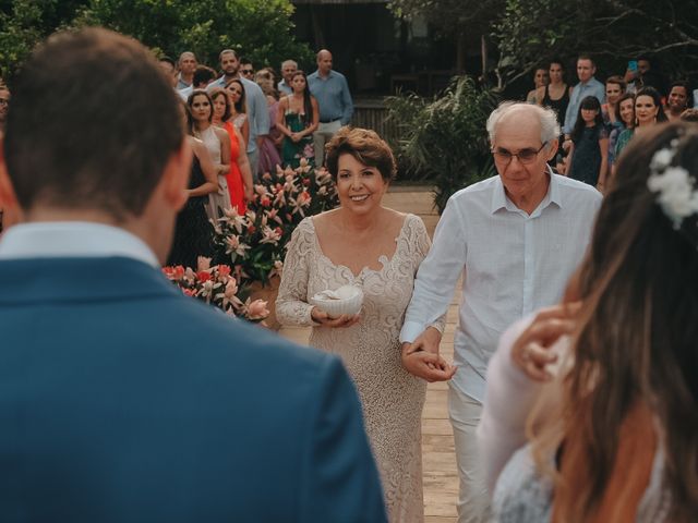
[[[490,521],[490,494],[480,464],[476,431],[482,416],[482,403],[448,387],[448,417],[454,429],[458,489],[458,523]]]

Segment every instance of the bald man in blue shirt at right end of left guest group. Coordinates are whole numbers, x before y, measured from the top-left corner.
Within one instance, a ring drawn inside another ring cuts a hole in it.
[[[332,52],[327,49],[317,53],[317,71],[308,76],[308,85],[320,106],[320,126],[313,134],[313,144],[315,163],[322,166],[325,158],[325,144],[339,131],[339,127],[351,121],[353,102],[347,78],[332,69]]]

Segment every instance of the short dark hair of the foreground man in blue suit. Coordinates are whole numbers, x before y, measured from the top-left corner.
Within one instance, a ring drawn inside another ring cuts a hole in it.
[[[4,153],[20,205],[141,216],[183,139],[155,57],[101,28],[58,33],[14,86]]]

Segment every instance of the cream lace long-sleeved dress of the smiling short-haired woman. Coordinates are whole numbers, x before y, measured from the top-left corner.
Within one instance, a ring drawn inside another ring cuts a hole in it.
[[[276,314],[282,325],[313,325],[312,295],[361,285],[361,320],[348,328],[315,326],[310,344],[338,354],[357,385],[390,522],[418,523],[424,518],[421,414],[426,384],[402,367],[398,336],[417,269],[430,247],[422,220],[407,215],[396,242],[390,259],[381,256],[383,268],[354,276],[323,254],[313,220],[305,218],[289,243]]]

